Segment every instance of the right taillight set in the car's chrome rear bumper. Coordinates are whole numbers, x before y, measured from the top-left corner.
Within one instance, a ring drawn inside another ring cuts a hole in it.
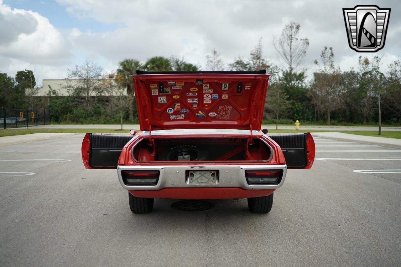
[[[245,178],[249,185],[279,184],[283,170],[245,170]]]

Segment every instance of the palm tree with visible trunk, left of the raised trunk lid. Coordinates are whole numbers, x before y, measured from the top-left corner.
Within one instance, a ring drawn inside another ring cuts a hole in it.
[[[118,69],[117,69],[117,75],[115,77],[115,80],[119,85],[122,87],[125,87],[127,89],[127,94],[132,95],[130,97],[130,121],[134,118],[134,107],[133,107],[133,102],[134,102],[134,94],[135,94],[135,88],[134,88],[134,82],[132,77],[129,75],[135,74],[135,71],[137,69],[142,69],[142,64],[136,60],[136,59],[124,59],[123,61],[120,61],[118,63]]]

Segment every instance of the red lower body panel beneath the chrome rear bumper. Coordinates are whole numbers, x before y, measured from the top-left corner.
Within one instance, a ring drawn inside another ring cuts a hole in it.
[[[161,190],[128,190],[140,198],[173,199],[232,199],[269,196],[275,189],[245,190],[237,187],[224,188],[164,188]]]

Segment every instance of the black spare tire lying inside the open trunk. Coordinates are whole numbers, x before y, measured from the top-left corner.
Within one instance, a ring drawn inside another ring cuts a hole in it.
[[[159,154],[160,161],[209,160],[209,151],[196,145],[180,145]]]

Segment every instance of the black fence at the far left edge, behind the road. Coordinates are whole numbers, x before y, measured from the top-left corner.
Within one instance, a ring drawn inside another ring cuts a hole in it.
[[[47,109],[0,109],[0,129],[50,124]]]

